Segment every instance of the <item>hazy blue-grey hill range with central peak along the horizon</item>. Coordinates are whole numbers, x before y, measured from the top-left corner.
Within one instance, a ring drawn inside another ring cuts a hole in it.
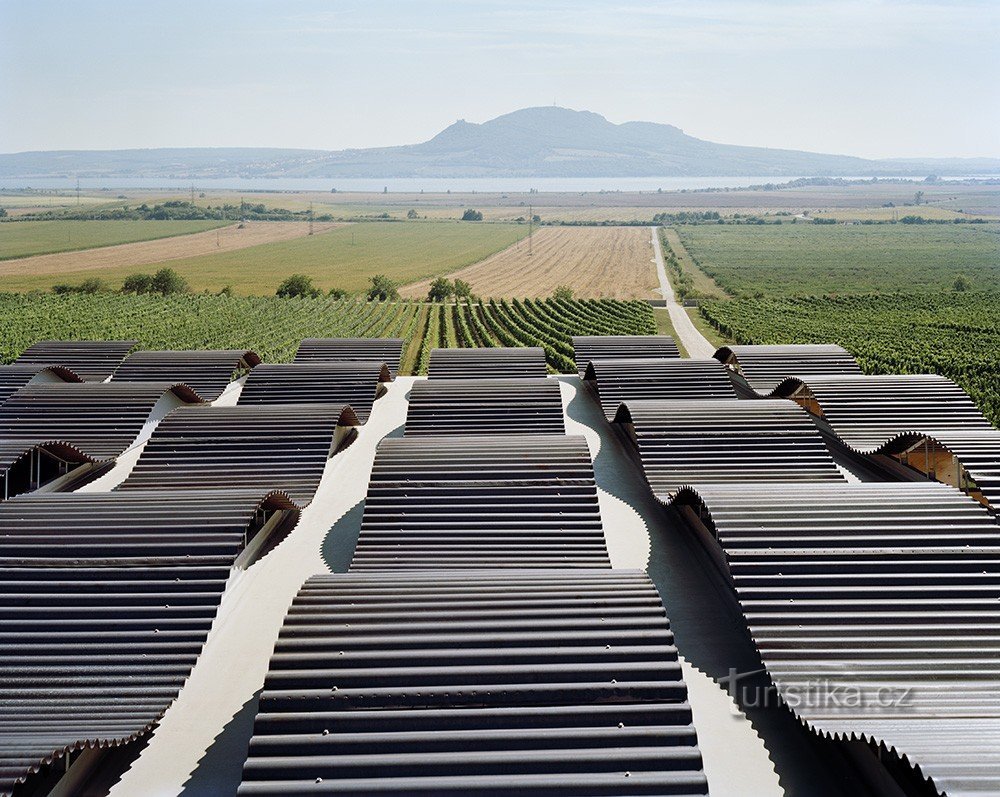
[[[335,152],[192,148],[0,155],[0,177],[788,177],[1000,173],[1000,159],[866,160],[703,141],[672,125],[525,108],[421,144]]]

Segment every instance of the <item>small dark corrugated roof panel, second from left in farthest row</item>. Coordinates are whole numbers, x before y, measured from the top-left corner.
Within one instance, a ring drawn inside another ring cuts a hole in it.
[[[137,351],[125,358],[112,377],[116,382],[183,382],[206,401],[215,401],[234,374],[260,363],[247,349],[206,351]]]

